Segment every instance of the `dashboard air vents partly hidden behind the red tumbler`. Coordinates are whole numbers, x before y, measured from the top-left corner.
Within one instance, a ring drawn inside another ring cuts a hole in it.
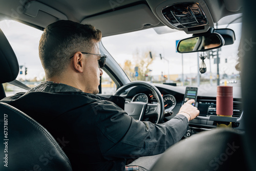
[[[216,115],[216,100],[198,100],[198,110],[200,116]],[[243,112],[242,103],[233,102],[233,116],[239,118]]]

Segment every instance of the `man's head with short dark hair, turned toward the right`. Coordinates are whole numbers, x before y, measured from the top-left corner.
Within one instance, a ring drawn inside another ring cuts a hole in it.
[[[85,92],[98,93],[102,74],[97,64],[100,56],[81,52],[99,54],[100,39],[101,32],[92,25],[59,20],[47,26],[39,42],[39,57],[46,79],[61,80]]]

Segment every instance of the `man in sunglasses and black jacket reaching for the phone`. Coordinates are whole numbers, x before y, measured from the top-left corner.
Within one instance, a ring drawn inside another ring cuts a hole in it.
[[[46,81],[1,102],[61,139],[73,170],[125,170],[126,159],[151,156],[136,162],[139,170],[148,170],[154,155],[178,142],[199,111],[188,100],[174,118],[153,124],[133,119],[115,100],[96,95],[106,60],[100,40],[101,32],[91,25],[69,20],[49,25],[39,42]]]

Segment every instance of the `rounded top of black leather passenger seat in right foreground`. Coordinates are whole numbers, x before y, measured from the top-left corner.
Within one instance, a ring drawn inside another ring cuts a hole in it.
[[[151,171],[248,170],[243,139],[226,129],[193,135],[167,149]]]

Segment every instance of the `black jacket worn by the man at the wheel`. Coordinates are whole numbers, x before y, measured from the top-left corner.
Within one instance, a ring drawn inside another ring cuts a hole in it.
[[[49,81],[1,102],[44,126],[67,154],[73,170],[124,170],[126,159],[163,153],[188,127],[183,115],[163,124],[134,120],[119,107],[122,104]],[[41,162],[44,168],[45,161]]]

